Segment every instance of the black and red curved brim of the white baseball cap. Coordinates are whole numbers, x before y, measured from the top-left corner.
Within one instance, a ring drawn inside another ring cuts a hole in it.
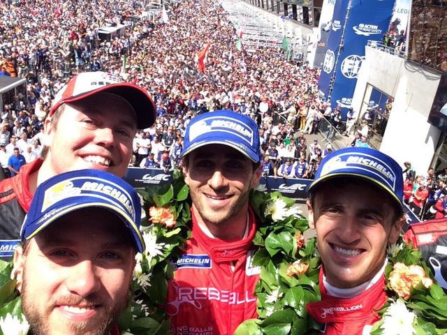
[[[156,107],[154,101],[152,101],[152,98],[144,89],[127,82],[106,85],[104,87],[94,89],[93,91],[89,91],[86,94],[80,94],[73,98],[66,98],[59,101],[51,108],[50,115],[52,115],[54,111],[57,110],[57,108],[59,108],[63,103],[74,103],[75,101],[80,101],[99,92],[108,92],[124,98],[124,100],[126,100],[135,111],[138,129],[149,128],[154,124],[156,119]]]

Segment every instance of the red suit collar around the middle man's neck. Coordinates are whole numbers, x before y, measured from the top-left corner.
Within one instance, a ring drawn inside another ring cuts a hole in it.
[[[200,229],[193,208],[191,208],[191,218],[194,239],[196,239],[199,244],[205,246],[205,250],[207,250],[214,262],[232,262],[247,255],[247,251],[251,248],[251,241],[256,234],[256,218],[251,207],[249,207],[248,213],[248,234],[247,237],[242,239],[226,241],[208,237],[205,232]]]

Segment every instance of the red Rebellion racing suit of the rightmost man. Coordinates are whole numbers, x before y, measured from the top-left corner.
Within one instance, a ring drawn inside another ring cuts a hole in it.
[[[384,275],[357,297],[343,299],[328,295],[323,285],[323,267],[321,267],[319,288],[321,301],[309,302],[306,308],[316,322],[325,325],[321,331],[325,335],[362,335],[366,325],[373,325],[380,320],[380,315],[376,311],[379,311],[388,300],[384,290]]]

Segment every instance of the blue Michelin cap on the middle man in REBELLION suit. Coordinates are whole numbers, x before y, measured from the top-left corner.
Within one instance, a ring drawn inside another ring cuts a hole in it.
[[[193,117],[186,127],[181,156],[208,144],[228,145],[255,163],[262,158],[258,125],[233,110],[217,110]]]

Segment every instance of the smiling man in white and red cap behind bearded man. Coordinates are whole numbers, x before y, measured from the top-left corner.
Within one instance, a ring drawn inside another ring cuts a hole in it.
[[[154,124],[147,92],[108,73],[80,73],[54,98],[45,119],[42,158],[0,182],[0,258],[9,260],[36,187],[56,174],[98,169],[122,177],[139,128]]]

